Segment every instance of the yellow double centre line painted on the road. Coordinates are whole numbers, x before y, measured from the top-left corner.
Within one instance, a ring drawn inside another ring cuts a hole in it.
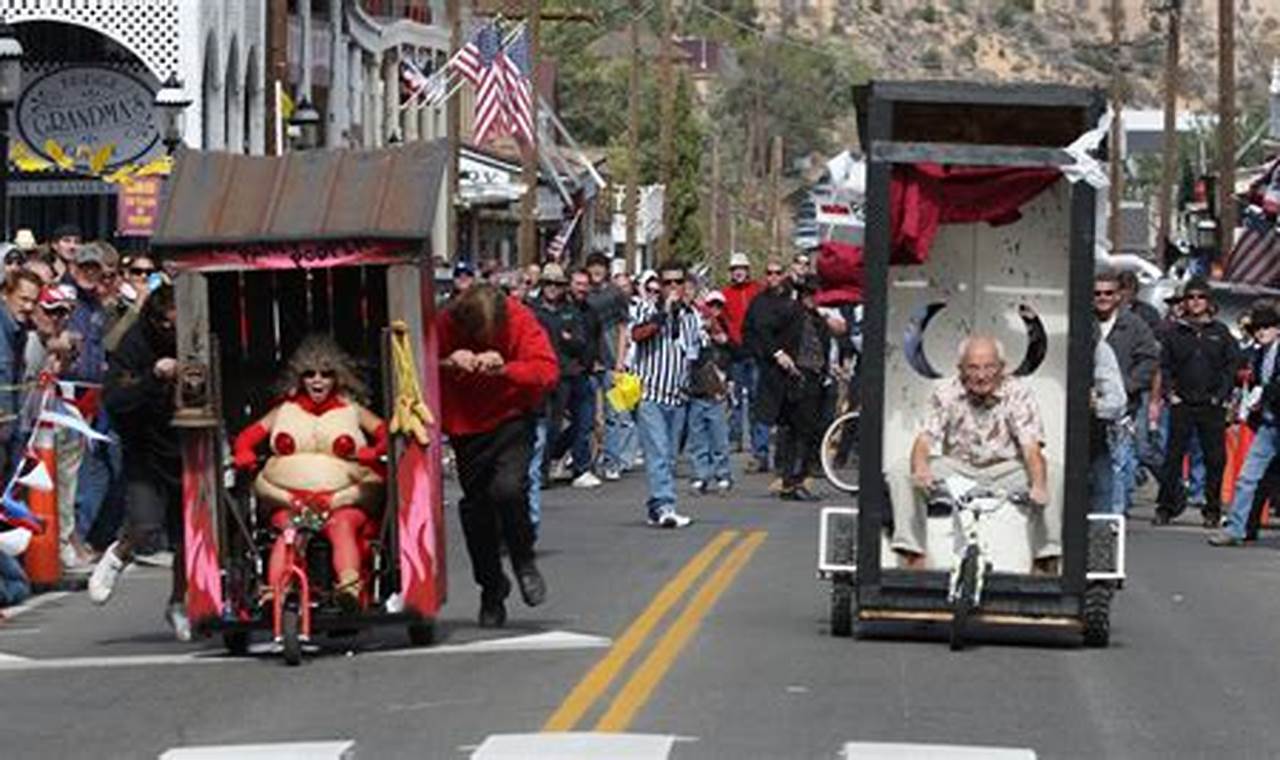
[[[645,640],[658,623],[671,612],[686,592],[698,582],[724,550],[739,537],[739,531],[722,531],[701,549],[685,567],[676,573],[654,596],[631,626],[618,637],[608,654],[591,668],[573,687],[564,702],[543,725],[543,731],[572,731],[593,705],[608,691],[613,681],[622,673],[631,658],[640,651]],[[703,618],[737,577],[737,573],[751,559],[751,554],[764,542],[768,534],[753,531],[739,542],[722,562],[710,578],[699,589],[692,601],[635,670],[631,679],[622,687],[604,715],[595,724],[595,731],[621,732],[631,725],[640,708],[653,695],[654,688],[676,663],[680,653],[701,626]]]

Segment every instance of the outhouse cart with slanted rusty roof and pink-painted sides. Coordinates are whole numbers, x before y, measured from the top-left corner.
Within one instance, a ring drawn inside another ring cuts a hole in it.
[[[291,664],[320,631],[397,623],[413,644],[433,640],[445,599],[431,266],[445,160],[439,141],[177,161],[152,243],[178,267],[187,610],[236,653],[255,629],[273,631]],[[264,601],[275,531],[230,467],[229,441],[278,400],[285,361],[316,333],[355,358],[390,430],[355,614],[334,605],[323,511],[287,528],[289,582]]]

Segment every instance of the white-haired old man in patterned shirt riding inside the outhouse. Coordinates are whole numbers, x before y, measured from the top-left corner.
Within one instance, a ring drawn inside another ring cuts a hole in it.
[[[911,447],[916,498],[893,504],[892,548],[909,568],[925,567],[927,494],[952,475],[1004,491],[1027,491],[1034,511],[1048,504],[1042,452],[1044,425],[1032,390],[1007,374],[1005,349],[987,335],[961,342],[956,375],[934,389],[924,427]],[[1056,557],[1037,557],[1053,572]]]

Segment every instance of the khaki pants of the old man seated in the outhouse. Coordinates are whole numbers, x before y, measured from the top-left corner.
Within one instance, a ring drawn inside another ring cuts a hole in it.
[[[929,470],[936,480],[959,475],[1004,491],[1029,487],[1027,467],[1018,459],[974,467],[951,457],[933,457],[929,459]],[[890,546],[927,554],[924,494],[914,486],[910,477],[899,477],[891,479],[890,496],[893,500],[893,539]],[[1033,514],[1038,516],[1032,525],[1032,555],[1036,559],[1062,554],[1062,511],[1057,499],[1051,498],[1050,502],[1043,509],[1033,509]]]

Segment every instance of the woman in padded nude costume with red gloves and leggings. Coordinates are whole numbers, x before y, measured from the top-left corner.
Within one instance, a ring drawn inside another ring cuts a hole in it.
[[[333,545],[338,601],[361,604],[360,535],[378,517],[383,499],[387,424],[361,406],[366,397],[353,361],[328,335],[308,335],[289,358],[282,400],[236,438],[236,467],[252,470],[268,441],[271,457],[253,493],[283,531],[297,508],[328,513],[324,534]],[[276,539],[268,580],[284,572],[287,546]]]

